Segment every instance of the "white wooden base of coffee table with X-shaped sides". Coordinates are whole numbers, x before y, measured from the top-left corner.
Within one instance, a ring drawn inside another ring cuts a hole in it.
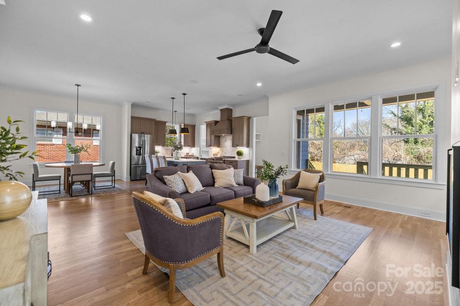
[[[224,233],[227,237],[249,245],[249,252],[255,254],[257,246],[262,242],[277,236],[288,228],[297,228],[296,205],[294,204],[284,210],[287,219],[274,216],[280,211],[260,219],[254,219],[225,209]]]

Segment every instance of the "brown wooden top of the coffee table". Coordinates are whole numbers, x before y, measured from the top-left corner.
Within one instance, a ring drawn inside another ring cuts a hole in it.
[[[259,207],[249,203],[245,203],[243,202],[243,198],[239,197],[236,199],[217,203],[217,206],[229,211],[239,213],[244,216],[248,216],[250,218],[259,219],[271,215],[273,213],[283,211],[293,205],[296,205],[302,200],[302,198],[283,195],[282,202],[267,207]]]

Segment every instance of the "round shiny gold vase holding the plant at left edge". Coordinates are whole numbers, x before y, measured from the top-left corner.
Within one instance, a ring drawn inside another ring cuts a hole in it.
[[[32,202],[32,193],[25,184],[0,182],[0,221],[13,219],[24,213]]]

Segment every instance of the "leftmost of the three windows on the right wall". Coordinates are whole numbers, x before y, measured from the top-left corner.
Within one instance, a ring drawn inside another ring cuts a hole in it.
[[[325,108],[295,112],[295,166],[297,169],[323,169]]]

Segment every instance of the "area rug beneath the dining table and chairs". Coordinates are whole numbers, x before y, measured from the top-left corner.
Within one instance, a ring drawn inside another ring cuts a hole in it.
[[[57,190],[57,186],[55,185],[54,186],[37,186],[35,190],[36,191]],[[74,196],[71,197],[70,193],[64,192],[64,187],[61,185],[61,193],[43,194],[43,195],[39,195],[38,198],[47,199],[48,203],[50,203],[50,202],[57,202],[57,201],[64,201],[64,200],[77,200],[77,199],[81,199],[84,197],[90,197],[90,196],[95,197],[95,196],[114,195],[114,194],[122,194],[122,193],[129,193],[129,191],[121,188],[118,185],[115,185],[115,188],[96,189],[96,190],[93,190],[93,194],[88,194],[88,191],[83,186],[74,185],[74,190],[73,190]]]

